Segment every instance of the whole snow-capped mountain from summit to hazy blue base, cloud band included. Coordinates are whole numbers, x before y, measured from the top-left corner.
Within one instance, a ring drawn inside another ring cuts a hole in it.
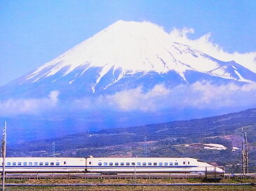
[[[256,107],[256,73],[180,43],[151,22],[118,21],[0,87],[11,141]]]

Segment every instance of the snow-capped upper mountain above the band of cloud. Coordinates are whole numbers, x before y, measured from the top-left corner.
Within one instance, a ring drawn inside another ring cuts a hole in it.
[[[155,85],[166,87],[198,80],[255,83],[256,73],[234,61],[223,62],[189,45],[173,41],[150,22],[118,21],[71,50],[0,87],[1,99],[62,98],[114,94]]]

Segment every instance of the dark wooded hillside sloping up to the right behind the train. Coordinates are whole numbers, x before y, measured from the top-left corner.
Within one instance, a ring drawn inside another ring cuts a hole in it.
[[[8,148],[8,156],[49,156],[55,153],[65,157],[196,157],[217,164],[239,164],[242,127],[248,134],[249,155],[253,163],[256,160],[255,145],[252,144],[256,142],[256,108],[210,118],[29,141]]]

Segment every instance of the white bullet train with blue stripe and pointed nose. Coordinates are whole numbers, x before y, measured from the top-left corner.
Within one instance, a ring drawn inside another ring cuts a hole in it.
[[[0,164],[2,167],[2,158]],[[189,157],[6,157],[5,169],[6,173],[223,173],[218,167]]]

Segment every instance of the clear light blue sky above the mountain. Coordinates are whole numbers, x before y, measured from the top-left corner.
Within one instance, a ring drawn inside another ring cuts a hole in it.
[[[256,1],[0,1],[0,85],[22,76],[117,20],[211,33],[227,52],[256,51]]]

